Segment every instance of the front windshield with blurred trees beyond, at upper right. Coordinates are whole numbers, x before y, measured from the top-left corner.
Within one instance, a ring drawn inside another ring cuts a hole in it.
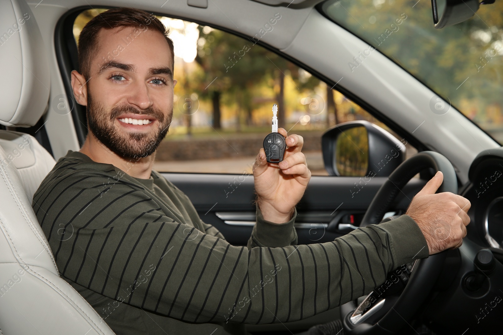
[[[328,0],[321,11],[503,143],[503,0],[443,29],[428,0]]]

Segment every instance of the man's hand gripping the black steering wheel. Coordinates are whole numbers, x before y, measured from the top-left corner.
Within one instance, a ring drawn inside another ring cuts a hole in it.
[[[430,255],[459,248],[470,223],[467,212],[471,203],[468,199],[451,192],[435,194],[443,179],[442,172],[437,172],[414,196],[405,213],[421,228]]]

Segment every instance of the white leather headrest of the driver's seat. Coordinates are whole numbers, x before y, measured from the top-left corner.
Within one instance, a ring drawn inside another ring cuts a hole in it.
[[[25,0],[0,1],[0,68],[0,124],[34,126],[47,107],[50,74],[42,34]]]

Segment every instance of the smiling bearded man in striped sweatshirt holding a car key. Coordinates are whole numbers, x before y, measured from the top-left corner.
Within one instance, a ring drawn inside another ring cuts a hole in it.
[[[33,206],[61,276],[117,334],[242,333],[243,323],[299,320],[381,285],[389,271],[459,247],[469,202],[434,194],[437,174],[406,215],[330,243],[296,246],[295,205],[311,173],[303,139],[254,166],[257,224],[229,245],[189,198],[152,170],[173,114],[173,43],[153,16],[109,10],[79,38],[73,93],[89,134],[60,158]],[[434,219],[432,219],[432,217]],[[435,238],[437,225],[450,230]]]

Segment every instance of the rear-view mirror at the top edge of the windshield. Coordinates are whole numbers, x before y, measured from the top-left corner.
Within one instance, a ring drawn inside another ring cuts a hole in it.
[[[436,29],[452,26],[471,18],[478,8],[478,0],[432,0],[433,23]]]

